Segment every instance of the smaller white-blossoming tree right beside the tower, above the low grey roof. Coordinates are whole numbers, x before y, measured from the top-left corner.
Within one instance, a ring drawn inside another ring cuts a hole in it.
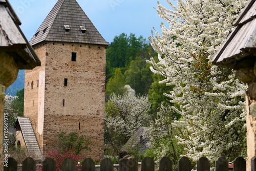
[[[125,95],[113,94],[106,103],[105,126],[116,136],[129,139],[139,127],[148,123],[151,104],[147,96],[136,95],[129,85],[125,88]]]

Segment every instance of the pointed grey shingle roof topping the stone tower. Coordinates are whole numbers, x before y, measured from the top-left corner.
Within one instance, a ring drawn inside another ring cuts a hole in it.
[[[70,29],[66,30],[65,25]],[[86,31],[82,33],[84,28]],[[42,41],[109,45],[76,0],[58,0],[30,40],[30,44],[33,46]]]

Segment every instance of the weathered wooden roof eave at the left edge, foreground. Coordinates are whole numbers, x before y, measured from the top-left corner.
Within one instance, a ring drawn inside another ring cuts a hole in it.
[[[1,30],[6,44],[0,47],[0,51],[11,53],[19,69],[33,69],[40,66],[41,62],[20,29],[20,21],[8,0],[0,0],[1,4],[4,4],[1,8],[3,12]]]

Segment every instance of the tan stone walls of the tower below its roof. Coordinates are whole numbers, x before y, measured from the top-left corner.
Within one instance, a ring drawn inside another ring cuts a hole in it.
[[[43,154],[58,148],[60,132],[77,132],[92,141],[92,150],[83,150],[79,155],[102,159],[105,46],[47,42],[34,49],[42,67],[26,72],[26,83],[31,84],[33,80],[34,89],[26,85],[25,98],[30,100],[25,103],[24,112],[30,117]],[[72,53],[76,54],[75,61]],[[42,80],[44,74],[45,80]],[[45,87],[42,87],[40,82],[44,81]]]

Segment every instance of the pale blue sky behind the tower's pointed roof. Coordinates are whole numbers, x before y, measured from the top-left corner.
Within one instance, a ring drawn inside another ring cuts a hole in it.
[[[170,8],[165,0],[158,0]],[[176,3],[175,0],[170,0]],[[9,0],[22,22],[22,30],[27,39],[33,34],[56,4],[57,0]],[[106,41],[121,33],[134,33],[144,38],[151,36],[153,27],[161,31],[164,22],[154,9],[157,0],[77,0],[83,11],[91,19]]]

